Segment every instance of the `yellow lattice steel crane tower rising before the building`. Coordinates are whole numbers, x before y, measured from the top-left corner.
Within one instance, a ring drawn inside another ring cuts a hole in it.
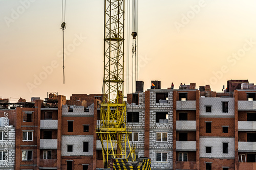
[[[106,168],[109,156],[126,158],[126,148],[133,149],[127,136],[126,103],[123,101],[124,0],[105,0],[104,5],[103,99],[97,133]]]

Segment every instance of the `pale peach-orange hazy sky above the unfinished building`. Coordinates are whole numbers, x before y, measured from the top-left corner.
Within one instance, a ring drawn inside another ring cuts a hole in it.
[[[0,0],[0,98],[101,93],[104,1],[66,1],[65,84],[61,5],[61,0]],[[255,7],[253,0],[138,0],[138,80],[144,90],[152,80],[164,89],[172,82],[175,89],[196,83],[217,92],[231,79],[256,83]],[[124,43],[126,62],[132,52],[126,44],[131,48],[132,41],[126,37]],[[131,79],[128,84],[131,93]]]

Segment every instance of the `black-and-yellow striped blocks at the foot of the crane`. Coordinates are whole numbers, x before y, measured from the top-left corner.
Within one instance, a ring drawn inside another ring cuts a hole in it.
[[[128,170],[150,170],[150,158],[138,158],[136,162],[128,162],[127,159],[113,158],[110,162],[110,169],[128,169]]]

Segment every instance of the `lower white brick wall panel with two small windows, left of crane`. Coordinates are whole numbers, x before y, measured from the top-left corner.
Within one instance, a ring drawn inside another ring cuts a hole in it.
[[[89,142],[89,152],[83,152],[83,142]],[[67,152],[67,145],[73,145],[73,152]],[[74,155],[84,155],[91,156],[93,155],[93,136],[83,136],[83,135],[74,135],[74,136],[62,136],[61,137],[61,156],[74,156]]]

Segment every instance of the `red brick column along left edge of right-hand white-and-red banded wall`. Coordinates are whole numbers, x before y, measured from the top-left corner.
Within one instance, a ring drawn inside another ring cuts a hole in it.
[[[197,123],[197,170],[200,168],[200,136],[199,136],[199,128],[200,128],[200,123],[199,123],[199,117],[200,117],[200,92],[197,90],[196,92],[196,123]]]

